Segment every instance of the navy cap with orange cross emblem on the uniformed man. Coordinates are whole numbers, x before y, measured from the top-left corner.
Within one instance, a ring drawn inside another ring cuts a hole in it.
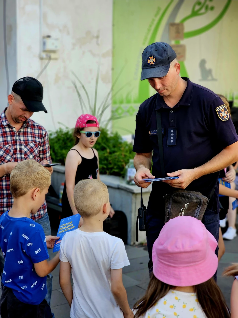
[[[155,42],[142,53],[141,80],[150,77],[163,77],[169,72],[170,63],[177,57],[168,43]]]

